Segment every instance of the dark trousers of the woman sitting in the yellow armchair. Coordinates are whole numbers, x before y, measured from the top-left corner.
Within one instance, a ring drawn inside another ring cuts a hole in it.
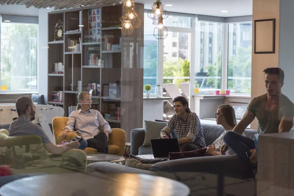
[[[107,137],[104,132],[99,132],[94,138],[87,140],[87,147],[96,148],[98,152],[108,154]]]

